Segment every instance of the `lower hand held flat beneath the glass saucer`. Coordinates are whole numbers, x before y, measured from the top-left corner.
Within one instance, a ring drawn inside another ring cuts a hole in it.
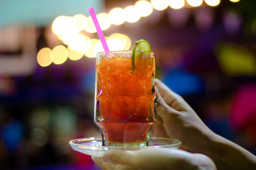
[[[103,159],[92,157],[104,170],[216,169],[209,157],[170,148],[147,148],[138,151],[110,150]]]

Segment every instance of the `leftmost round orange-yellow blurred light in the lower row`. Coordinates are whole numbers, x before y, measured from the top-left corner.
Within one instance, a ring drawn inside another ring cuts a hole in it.
[[[42,67],[49,66],[53,60],[53,53],[50,48],[42,48],[36,56],[38,64]]]

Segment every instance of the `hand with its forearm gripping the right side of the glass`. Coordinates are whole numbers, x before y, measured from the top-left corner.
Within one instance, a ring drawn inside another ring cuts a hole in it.
[[[179,139],[181,148],[204,153],[218,169],[255,169],[255,155],[212,132],[182,97],[159,80],[156,80],[156,94],[154,136]]]

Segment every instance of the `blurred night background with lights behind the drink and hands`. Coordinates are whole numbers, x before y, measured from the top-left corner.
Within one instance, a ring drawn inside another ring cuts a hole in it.
[[[146,39],[156,77],[256,154],[256,1],[0,0],[0,169],[99,169],[68,141],[93,123],[95,53]]]

